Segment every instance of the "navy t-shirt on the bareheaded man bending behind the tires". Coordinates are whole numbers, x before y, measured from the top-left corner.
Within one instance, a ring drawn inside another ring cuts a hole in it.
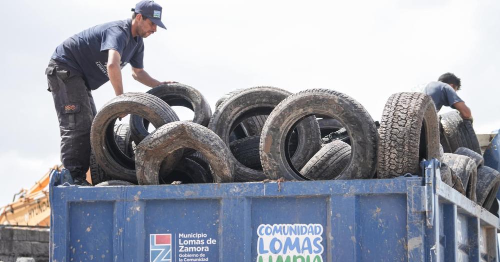
[[[455,109],[453,107],[454,103],[463,102],[463,100],[458,97],[455,90],[453,90],[453,87],[443,82],[430,82],[425,85],[423,92],[432,97],[437,111],[439,111],[442,106],[450,106]]]

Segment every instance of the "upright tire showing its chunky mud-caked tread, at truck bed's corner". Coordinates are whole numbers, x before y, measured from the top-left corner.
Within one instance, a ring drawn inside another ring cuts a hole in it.
[[[416,92],[395,93],[380,120],[378,178],[420,174],[419,163],[439,159],[439,126],[434,102]]]

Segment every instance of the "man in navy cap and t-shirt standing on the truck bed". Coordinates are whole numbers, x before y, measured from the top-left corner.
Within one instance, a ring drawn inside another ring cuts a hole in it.
[[[91,90],[109,80],[114,93],[123,94],[121,68],[127,63],[132,67],[132,77],[146,86],[169,83],[149,76],[142,63],[142,38],[156,32],[156,26],[165,28],[161,10],[154,1],[142,0],[132,8],[131,19],[83,30],[64,40],[51,56],[45,74],[59,120],[61,161],[77,185],[90,185],[85,175],[90,126],[97,113]]]

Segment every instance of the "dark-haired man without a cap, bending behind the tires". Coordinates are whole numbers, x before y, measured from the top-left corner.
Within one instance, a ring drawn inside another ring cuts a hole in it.
[[[425,85],[423,92],[432,97],[437,111],[442,106],[449,106],[458,110],[463,119],[472,119],[470,109],[456,94],[458,90],[460,90],[460,78],[452,73],[445,73],[439,76],[436,82]]]

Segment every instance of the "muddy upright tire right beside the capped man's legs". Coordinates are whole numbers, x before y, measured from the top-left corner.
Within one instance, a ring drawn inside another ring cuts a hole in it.
[[[95,160],[110,177],[137,183],[134,159],[126,156],[114,143],[114,122],[123,113],[139,115],[148,119],[155,127],[178,118],[161,99],[138,92],[125,93],[111,99],[94,117],[90,129],[90,144]],[[172,155],[165,163],[171,163],[173,168],[181,156],[182,152]]]

